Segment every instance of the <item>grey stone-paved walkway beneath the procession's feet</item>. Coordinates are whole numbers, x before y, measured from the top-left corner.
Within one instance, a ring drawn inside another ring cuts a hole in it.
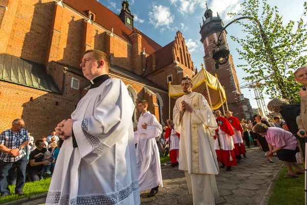
[[[216,204],[260,204],[269,185],[281,167],[282,162],[273,157],[274,163],[269,163],[265,153],[258,148],[247,150],[247,158],[233,167],[230,172],[220,169],[216,183],[220,197]],[[159,188],[156,196],[147,198],[147,192],[141,193],[143,205],[159,204],[193,204],[192,196],[188,194],[187,183],[183,171],[178,167],[162,166],[163,188]],[[267,197],[268,198],[268,197]],[[45,199],[37,199],[23,203],[24,205],[43,204]]]

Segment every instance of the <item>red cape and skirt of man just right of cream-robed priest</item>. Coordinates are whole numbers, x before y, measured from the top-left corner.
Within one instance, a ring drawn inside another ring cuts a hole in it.
[[[223,131],[225,132],[227,135],[220,135],[220,138],[221,137],[231,137],[232,135],[234,135],[234,132],[233,132],[233,129],[232,127],[230,126],[228,120],[225,118],[225,117],[218,117],[216,118],[216,122],[217,122],[217,125],[218,127]],[[216,132],[218,132],[218,129],[215,130]],[[214,139],[216,139],[216,137],[214,136]],[[229,139],[228,139],[229,140]],[[231,139],[230,139],[231,140]],[[215,140],[215,142],[218,142],[217,140]],[[235,159],[235,153],[233,151],[233,149],[231,150],[216,150],[215,149],[215,152],[216,152],[216,155],[217,155],[217,158],[218,160],[221,162],[221,163],[225,163],[225,166],[226,167],[230,167],[230,166],[236,166],[237,163],[236,163],[236,159]]]

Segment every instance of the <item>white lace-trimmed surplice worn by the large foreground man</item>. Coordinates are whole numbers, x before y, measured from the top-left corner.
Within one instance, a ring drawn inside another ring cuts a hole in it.
[[[90,89],[72,113],[46,204],[140,204],[131,116],[134,104],[116,78]]]

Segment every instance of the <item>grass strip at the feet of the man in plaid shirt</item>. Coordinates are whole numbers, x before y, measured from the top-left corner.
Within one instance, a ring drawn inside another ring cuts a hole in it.
[[[24,187],[24,196],[12,194],[10,196],[0,198],[0,204],[14,201],[21,198],[28,198],[37,194],[47,193],[49,190],[51,178],[42,179],[40,181],[26,182]],[[15,186],[9,186],[10,193],[15,193]]]

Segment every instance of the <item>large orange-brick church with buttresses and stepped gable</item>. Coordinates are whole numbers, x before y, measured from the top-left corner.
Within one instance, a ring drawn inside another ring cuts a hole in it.
[[[178,85],[182,77],[195,74],[182,33],[160,46],[134,27],[126,0],[119,15],[96,0],[3,0],[0,132],[9,129],[13,119],[23,118],[31,135],[48,136],[58,122],[70,118],[89,90],[79,66],[89,49],[109,55],[109,75],[123,80],[136,105],[146,99],[162,125],[168,118],[168,81]],[[210,53],[205,52],[209,69]],[[171,110],[173,105],[174,100]],[[135,109],[135,125],[139,116]]]

